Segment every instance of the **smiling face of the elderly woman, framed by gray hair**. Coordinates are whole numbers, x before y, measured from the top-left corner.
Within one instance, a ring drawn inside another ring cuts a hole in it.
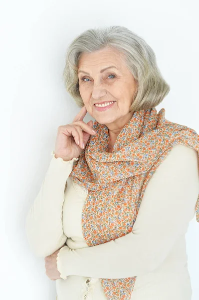
[[[82,53],[78,77],[79,91],[89,114],[113,132],[119,132],[133,115],[129,108],[137,82],[122,54],[110,47]],[[112,101],[112,104],[104,107],[95,105]]]

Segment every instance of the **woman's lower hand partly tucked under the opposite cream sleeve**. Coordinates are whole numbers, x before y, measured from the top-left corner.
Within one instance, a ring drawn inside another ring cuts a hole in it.
[[[65,244],[63,246],[65,246]],[[56,250],[51,255],[45,257],[45,268],[46,268],[45,273],[51,280],[56,280],[61,278],[60,272],[57,270],[57,255],[61,248]]]

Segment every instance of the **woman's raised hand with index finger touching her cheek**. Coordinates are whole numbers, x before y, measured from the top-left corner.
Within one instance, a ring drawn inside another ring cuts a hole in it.
[[[55,158],[61,157],[63,160],[77,158],[85,148],[90,135],[96,134],[96,131],[92,131],[93,121],[90,120],[87,123],[83,121],[86,113],[87,110],[84,105],[72,123],[58,127],[54,150]]]

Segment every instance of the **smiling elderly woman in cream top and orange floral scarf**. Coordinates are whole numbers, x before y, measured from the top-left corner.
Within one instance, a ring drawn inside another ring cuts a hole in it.
[[[64,80],[81,109],[58,127],[26,217],[57,300],[191,300],[199,135],[157,113],[170,87],[154,51],[125,27],[89,29],[68,48]]]

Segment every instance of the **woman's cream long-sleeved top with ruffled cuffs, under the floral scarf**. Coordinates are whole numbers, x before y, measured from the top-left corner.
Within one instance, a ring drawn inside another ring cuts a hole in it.
[[[175,145],[146,187],[133,231],[92,247],[81,229],[87,190],[69,177],[78,158],[51,154],[26,217],[26,234],[40,257],[65,244],[57,257],[57,300],[106,300],[99,278],[132,276],[137,278],[131,300],[191,300],[185,234],[199,194],[197,151]]]

